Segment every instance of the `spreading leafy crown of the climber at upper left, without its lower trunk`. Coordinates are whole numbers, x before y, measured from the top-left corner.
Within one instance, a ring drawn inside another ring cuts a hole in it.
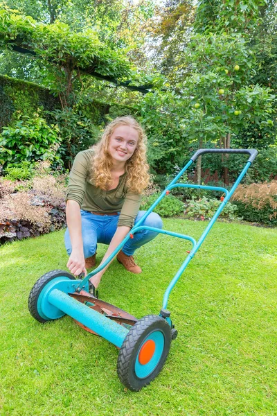
[[[1,10],[0,46],[19,46],[34,52],[46,69],[44,85],[60,97],[62,107],[75,102],[75,94],[82,88],[82,71],[116,79],[130,76],[124,53],[100,42],[96,31],[80,33],[59,22],[37,23],[9,8]]]

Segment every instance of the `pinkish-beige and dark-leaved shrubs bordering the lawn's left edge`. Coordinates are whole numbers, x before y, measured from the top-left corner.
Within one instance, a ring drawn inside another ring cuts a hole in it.
[[[0,178],[0,243],[39,236],[64,227],[66,175],[54,176],[48,163],[34,169],[28,181]]]

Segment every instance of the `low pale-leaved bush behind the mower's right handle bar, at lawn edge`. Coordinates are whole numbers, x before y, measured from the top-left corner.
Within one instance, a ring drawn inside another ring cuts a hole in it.
[[[196,218],[199,220],[210,220],[215,214],[215,211],[220,206],[221,201],[215,198],[208,199],[206,196],[196,199],[194,196],[192,200],[185,204],[185,215],[188,218]],[[237,207],[230,202],[225,205],[221,217],[228,218],[229,220],[238,219],[236,214]]]

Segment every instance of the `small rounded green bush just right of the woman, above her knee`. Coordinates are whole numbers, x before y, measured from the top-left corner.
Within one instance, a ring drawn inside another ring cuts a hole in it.
[[[144,196],[141,202],[141,208],[147,210],[157,200],[159,194],[151,196]],[[170,217],[181,214],[184,211],[184,203],[175,196],[166,196],[159,202],[157,207],[153,210],[162,217]]]

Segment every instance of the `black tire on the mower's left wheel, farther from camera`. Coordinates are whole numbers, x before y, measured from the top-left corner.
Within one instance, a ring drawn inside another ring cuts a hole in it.
[[[35,282],[32,290],[30,291],[30,295],[28,298],[29,312],[33,316],[33,318],[35,318],[39,322],[42,322],[42,324],[44,324],[44,322],[48,322],[48,320],[42,318],[42,316],[40,316],[39,312],[37,311],[37,301],[39,299],[39,295],[42,292],[44,286],[46,286],[46,284],[48,284],[49,281],[60,276],[69,277],[69,279],[75,280],[75,277],[71,275],[69,272],[64,272],[64,270],[52,270],[51,272],[42,275],[42,277],[39,277],[39,279]]]

